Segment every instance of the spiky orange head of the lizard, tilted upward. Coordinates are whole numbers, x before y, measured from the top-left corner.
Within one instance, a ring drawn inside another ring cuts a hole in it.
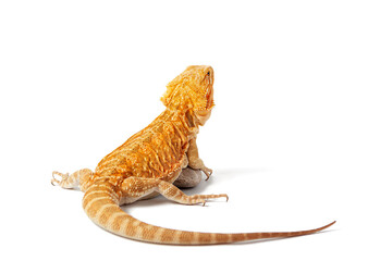
[[[211,66],[192,65],[168,84],[161,101],[170,110],[191,110],[203,126],[215,105],[212,85]]]

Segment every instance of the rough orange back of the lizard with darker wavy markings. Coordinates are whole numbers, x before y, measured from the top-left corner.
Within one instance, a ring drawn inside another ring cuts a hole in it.
[[[146,128],[106,156],[95,177],[130,176],[173,179],[184,161],[194,124],[185,114],[164,111]]]

